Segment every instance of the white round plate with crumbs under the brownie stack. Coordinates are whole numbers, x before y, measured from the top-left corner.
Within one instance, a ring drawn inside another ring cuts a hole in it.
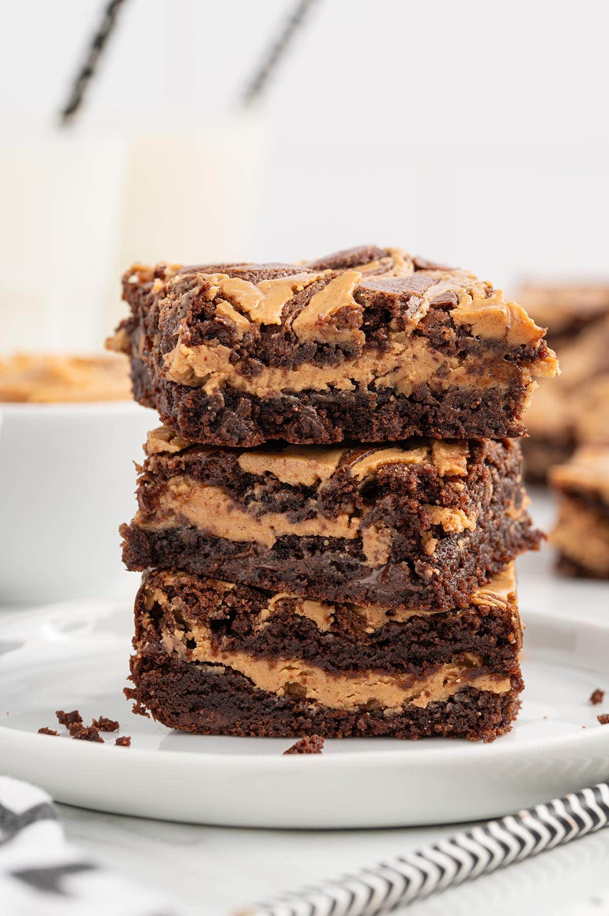
[[[351,738],[283,757],[288,738],[170,731],[133,715],[122,694],[130,610],[73,602],[0,615],[0,770],[86,808],[258,827],[471,821],[582,789],[609,778],[609,725],[596,720],[609,703],[588,702],[609,688],[608,593],[555,579],[543,556],[523,573],[527,690],[514,730],[493,744]],[[591,606],[606,620],[582,620]],[[118,719],[132,747],[72,740],[56,709]],[[61,736],[38,735],[41,725]]]

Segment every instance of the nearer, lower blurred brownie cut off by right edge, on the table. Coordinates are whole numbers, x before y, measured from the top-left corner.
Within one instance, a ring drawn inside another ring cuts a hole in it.
[[[581,446],[551,469],[559,494],[558,518],[549,540],[563,573],[609,578],[609,447]]]

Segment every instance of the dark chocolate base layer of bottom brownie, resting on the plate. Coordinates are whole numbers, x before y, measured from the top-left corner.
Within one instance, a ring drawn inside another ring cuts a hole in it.
[[[293,696],[277,696],[256,688],[244,675],[223,666],[185,662],[163,653],[132,659],[136,701],[134,711],[152,716],[183,732],[198,735],[291,737],[390,736],[461,737],[493,741],[509,731],[517,716],[519,673],[505,693],[464,687],[442,703],[402,713],[329,709]]]

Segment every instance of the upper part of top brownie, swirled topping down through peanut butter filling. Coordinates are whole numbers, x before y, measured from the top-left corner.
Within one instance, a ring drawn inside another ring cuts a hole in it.
[[[423,262],[398,248],[353,249],[310,265],[136,265],[125,286],[147,282],[158,301],[159,331],[173,327],[172,316],[183,316],[169,349],[164,344],[159,372],[168,382],[202,387],[209,395],[226,387],[262,398],[390,387],[409,397],[423,385],[435,392],[451,386],[507,389],[516,379],[532,390],[536,377],[558,372],[555,354],[539,348],[543,330],[517,302],[469,271]],[[201,341],[192,333],[188,303],[198,297],[218,322],[216,338],[207,331]],[[444,353],[423,326],[430,311],[440,309],[450,314],[453,336],[464,329],[493,346],[475,355]],[[379,310],[385,316],[382,347],[366,318]],[[295,353],[309,348],[305,358],[258,360],[252,371],[245,357],[256,355],[256,341],[274,326],[273,333],[283,329],[289,335]],[[227,327],[243,350],[225,343]],[[319,347],[335,348],[332,359],[315,362]]]

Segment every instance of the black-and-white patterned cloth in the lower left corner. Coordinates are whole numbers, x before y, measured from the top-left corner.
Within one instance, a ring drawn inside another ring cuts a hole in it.
[[[174,916],[158,893],[96,866],[67,842],[49,795],[0,776],[3,916]]]

